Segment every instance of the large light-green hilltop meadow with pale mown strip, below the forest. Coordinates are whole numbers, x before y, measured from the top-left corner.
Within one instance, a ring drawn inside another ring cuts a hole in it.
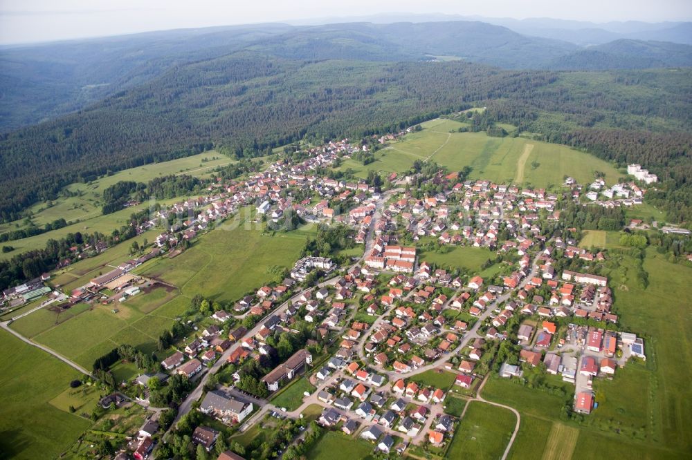
[[[565,175],[585,184],[593,180],[594,171],[605,173],[608,184],[617,182],[622,176],[612,164],[558,144],[523,137],[458,133],[458,128],[468,125],[451,119],[433,119],[421,126],[423,131],[409,133],[403,140],[390,142],[377,151],[374,162],[363,166],[347,160],[339,170],[351,168],[359,177],[365,177],[371,170],[402,173],[410,169],[415,160],[429,158],[450,171],[471,166],[471,179],[500,183],[521,181],[536,187],[559,186]]]

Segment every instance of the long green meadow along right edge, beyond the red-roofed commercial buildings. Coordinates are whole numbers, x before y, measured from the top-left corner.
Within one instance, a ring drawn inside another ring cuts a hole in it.
[[[632,259],[625,256],[619,267],[632,271]],[[644,394],[630,401],[628,412],[640,410],[650,412],[646,419],[653,421],[653,441],[680,452],[692,451],[692,438],[689,426],[692,424],[692,316],[689,314],[689,286],[692,269],[684,265],[671,264],[653,249],[648,249],[644,260],[648,272],[649,285],[641,289],[633,282],[628,289],[616,289],[614,308],[617,309],[621,323],[633,331],[650,334],[646,345],[647,369],[653,371],[651,387],[647,397]],[[611,273],[613,285],[622,285],[619,268]],[[629,278],[634,278],[632,274]],[[655,308],[652,308],[655,305]],[[637,368],[624,373],[625,379],[612,383],[612,391],[604,387],[605,399],[618,395],[614,392],[634,394],[641,383]],[[650,401],[647,401],[650,400]],[[607,404],[607,402],[606,402]],[[600,410],[600,408],[599,408]],[[639,412],[639,413],[644,413]]]

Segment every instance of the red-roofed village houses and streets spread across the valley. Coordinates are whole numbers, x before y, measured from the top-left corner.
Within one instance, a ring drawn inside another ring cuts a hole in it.
[[[414,445],[444,452],[459,425],[458,417],[446,414],[446,401],[482,400],[480,391],[491,376],[520,380],[529,368],[559,376],[574,385],[570,410],[589,414],[599,405],[594,378],[610,378],[632,358],[646,359],[642,338],[622,331],[611,311],[608,278],[594,271],[608,253],[579,247],[577,229],[557,230],[565,198],[577,206],[630,207],[641,204],[645,190],[634,182],[608,187],[600,179],[581,186],[572,178],[560,190],[521,189],[436,171],[424,180],[437,193],[421,196],[410,188],[415,175],[392,174],[383,189],[315,173],[363,149],[348,140],[330,142],[309,149],[307,159],[295,164],[280,160],[245,180],[213,184],[210,195],[160,209],[137,229],[176,216],[143,256],[69,293],[46,285],[46,274],[3,296],[10,307],[48,294],[46,302],[60,308],[103,303],[116,312],[119,303],[162,283],[135,274],[136,267],[176,257],[185,242],[203,238],[243,208],[267,226],[281,225],[292,213],[304,222],[346,226],[354,244],[362,245],[362,256],[347,265],[329,257],[301,258],[282,282],[258,287],[233,309],[218,309],[203,324],[190,324],[192,334],[185,334],[188,340],[175,338],[175,351],[158,372],[119,383],[102,405],[130,400],[149,407],[151,378],[165,384],[182,376],[192,390],[176,421],[199,410],[242,433],[266,414],[299,420],[306,408],[318,405],[322,427],[371,441],[385,454]],[[655,180],[648,173],[642,177]],[[480,276],[463,267],[441,267],[421,256],[433,247],[442,253],[486,248],[494,268]],[[310,325],[311,334],[296,329],[299,323]],[[277,354],[286,335],[300,337],[291,343],[290,356]],[[253,392],[245,385],[246,370],[264,360],[273,363],[271,371],[257,378],[262,392]],[[230,377],[207,385],[216,381],[215,374]],[[435,374],[448,377],[449,384],[427,383],[426,376]],[[286,392],[303,376],[313,390],[301,395],[298,407],[276,405],[273,394]],[[163,431],[147,420],[122,458],[146,459]],[[218,435],[199,425],[192,442],[209,451]],[[242,456],[228,450],[222,458]]]

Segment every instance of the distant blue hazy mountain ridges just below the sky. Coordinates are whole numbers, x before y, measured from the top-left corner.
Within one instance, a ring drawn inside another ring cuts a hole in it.
[[[396,17],[392,15],[390,21]],[[546,24],[552,20],[533,21],[526,23]],[[565,26],[564,22],[557,24]],[[680,23],[673,27],[684,34],[689,25]],[[568,22],[566,26],[578,28],[583,23]],[[628,31],[644,26],[619,24],[612,28]],[[574,33],[581,33],[576,30]],[[647,31],[662,33],[653,26]],[[310,60],[394,62],[439,56],[508,69],[604,70],[692,65],[692,47],[686,45],[630,39],[584,47],[565,40],[522,35],[480,21],[317,26],[271,23],[147,32],[0,48],[0,132],[78,111],[149,82],[176,66],[239,50]]]

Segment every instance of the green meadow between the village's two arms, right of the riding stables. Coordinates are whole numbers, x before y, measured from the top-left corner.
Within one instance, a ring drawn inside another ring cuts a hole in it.
[[[259,229],[224,222],[180,256],[156,260],[138,273],[170,282],[188,296],[231,302],[248,289],[280,280],[278,267],[293,266],[310,234],[299,229],[263,236]]]

